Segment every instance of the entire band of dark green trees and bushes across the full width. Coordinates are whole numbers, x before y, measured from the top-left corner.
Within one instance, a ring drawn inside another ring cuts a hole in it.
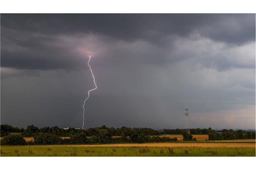
[[[208,134],[209,140],[223,139],[255,139],[255,131],[243,131],[222,129],[216,132],[212,128],[190,129],[164,129],[167,134],[182,134],[183,140],[196,140],[192,134]],[[77,129],[44,127],[38,128],[34,125],[26,129],[17,128],[11,125],[1,125],[2,145],[32,145],[32,144],[101,144],[101,143],[144,143],[144,142],[169,142],[177,141],[177,138],[160,137],[162,132],[151,128],[108,128],[102,127]],[[26,142],[23,137],[34,137],[33,141]],[[69,138],[63,138],[69,137]]]

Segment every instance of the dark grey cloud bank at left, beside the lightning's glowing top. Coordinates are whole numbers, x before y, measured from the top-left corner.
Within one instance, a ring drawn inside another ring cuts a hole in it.
[[[1,30],[1,66],[17,69],[75,69],[79,66],[72,44],[54,36]],[[67,47],[67,45],[69,45]]]

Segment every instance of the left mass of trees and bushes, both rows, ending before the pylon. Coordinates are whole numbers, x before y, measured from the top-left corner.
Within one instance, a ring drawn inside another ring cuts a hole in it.
[[[33,145],[33,144],[102,144],[102,143],[144,143],[169,142],[177,138],[160,137],[157,130],[151,128],[108,128],[102,127],[77,129],[44,127],[34,125],[26,129],[1,125],[2,145]],[[26,142],[23,137],[34,137],[33,141]],[[69,137],[69,138],[63,138]]]

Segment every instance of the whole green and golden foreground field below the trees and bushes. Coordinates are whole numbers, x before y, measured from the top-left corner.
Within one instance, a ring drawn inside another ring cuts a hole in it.
[[[206,136],[195,136],[201,137],[198,141],[168,143],[1,146],[0,156],[255,156],[255,139],[205,141]]]

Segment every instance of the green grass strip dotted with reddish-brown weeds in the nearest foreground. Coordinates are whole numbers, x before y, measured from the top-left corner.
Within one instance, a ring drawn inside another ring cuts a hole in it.
[[[255,156],[255,147],[1,146],[1,156]]]

